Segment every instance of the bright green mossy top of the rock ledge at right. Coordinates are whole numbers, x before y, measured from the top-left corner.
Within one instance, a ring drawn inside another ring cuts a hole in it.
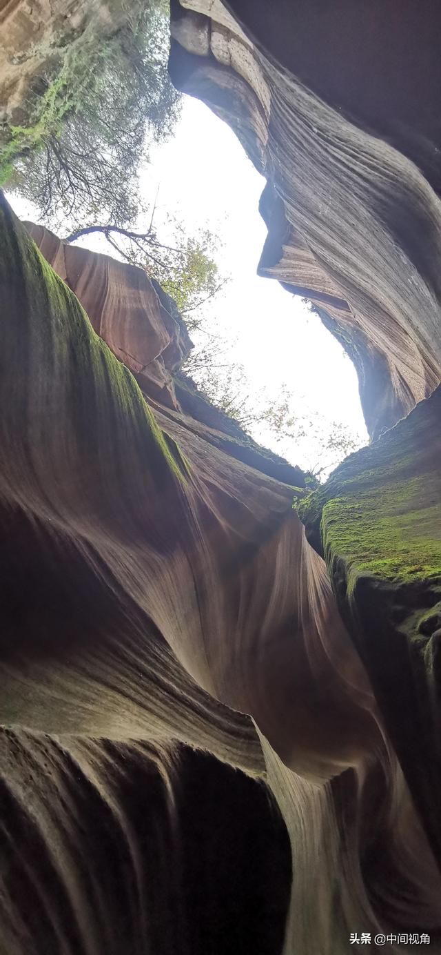
[[[300,506],[310,539],[347,593],[360,577],[393,586],[441,584],[441,507],[431,437],[440,397],[431,395],[368,448],[352,455]],[[340,570],[335,568],[337,564]]]

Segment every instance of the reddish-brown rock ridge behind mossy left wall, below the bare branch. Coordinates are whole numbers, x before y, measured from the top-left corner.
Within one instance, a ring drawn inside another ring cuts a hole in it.
[[[193,343],[175,302],[155,279],[111,256],[63,243],[42,225],[24,224],[46,261],[79,297],[94,330],[132,371],[152,407],[161,414],[168,409],[172,420],[178,412],[186,428],[196,429],[264,475],[305,487],[300,468],[261,448],[237,422],[210,405],[191,379],[174,374]]]

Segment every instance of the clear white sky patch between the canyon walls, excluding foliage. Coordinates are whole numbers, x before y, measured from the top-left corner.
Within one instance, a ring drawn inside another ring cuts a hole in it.
[[[357,376],[347,355],[300,298],[256,274],[266,235],[259,214],[264,180],[226,123],[185,96],[175,137],[151,150],[141,183],[151,202],[159,187],[158,218],[168,211],[191,234],[208,226],[220,235],[220,265],[231,282],[212,303],[211,321],[234,343],[232,359],[246,370],[248,392],[259,396],[264,388],[276,395],[285,384],[300,414],[317,411],[367,443]],[[35,218],[29,205],[9,198],[21,218]],[[103,249],[92,237],[82,244]],[[264,429],[253,435],[292,463],[305,468],[315,463],[317,449],[307,440],[296,448],[292,442],[275,444]]]

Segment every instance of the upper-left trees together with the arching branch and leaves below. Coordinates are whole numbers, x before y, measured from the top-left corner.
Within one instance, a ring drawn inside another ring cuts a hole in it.
[[[39,96],[11,184],[37,206],[40,222],[67,231],[65,242],[100,233],[118,257],[144,268],[176,300],[191,330],[227,278],[209,229],[188,235],[168,215],[159,238],[156,203],[150,212],[139,194],[147,140],[173,132],[180,95],[167,73],[168,3],[137,0],[137,8],[135,20],[112,38],[98,42],[90,30],[73,42],[61,73]]]

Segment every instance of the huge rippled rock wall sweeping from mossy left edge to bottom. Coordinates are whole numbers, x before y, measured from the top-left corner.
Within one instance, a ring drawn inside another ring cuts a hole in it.
[[[5,950],[339,955],[410,922],[441,950],[429,843],[292,487],[149,408],[1,214]],[[141,278],[105,267],[105,294],[75,287],[116,350]]]

